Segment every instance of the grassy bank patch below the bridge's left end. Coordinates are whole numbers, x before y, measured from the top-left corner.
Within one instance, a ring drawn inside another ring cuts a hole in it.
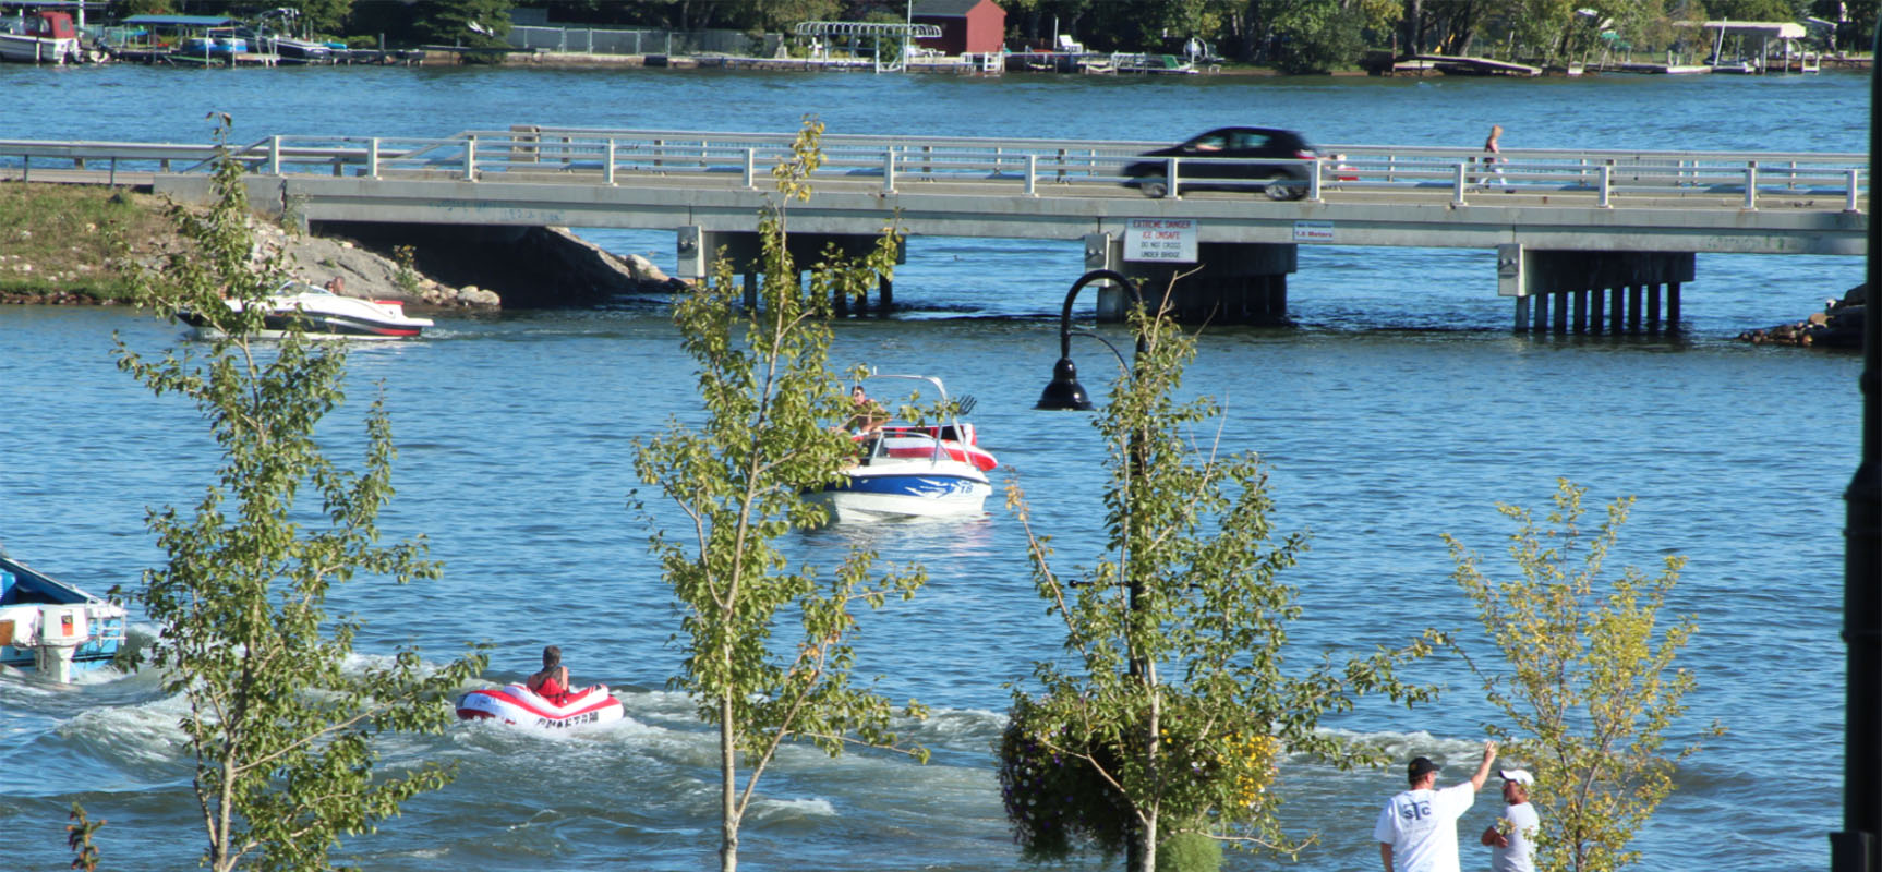
[[[124,262],[177,237],[164,202],[92,185],[0,185],[0,294],[126,299]]]

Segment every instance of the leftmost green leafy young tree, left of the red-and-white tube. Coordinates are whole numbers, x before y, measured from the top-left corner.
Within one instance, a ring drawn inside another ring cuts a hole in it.
[[[137,601],[160,633],[149,663],[164,691],[186,702],[179,725],[196,759],[194,791],[209,846],[203,864],[226,872],[331,868],[344,834],[369,832],[405,799],[440,787],[450,770],[418,767],[376,778],[382,731],[440,731],[448,693],[484,667],[470,654],[439,669],[399,650],[348,669],[359,622],[327,614],[333,584],[356,573],[433,578],[423,542],[378,544],[375,518],[391,497],[391,426],[382,401],[365,420],[365,469],[329,461],[314,441],[343,401],[344,348],[299,331],[258,345],[279,264],[250,260],[243,168],[230,158],[228,117],[216,128],[216,203],[175,209],[192,250],[136,281],[139,305],[166,318],[190,311],[216,339],[145,360],[117,339],[119,367],[154,394],[188,397],[222,452],[218,484],[194,516],[151,510],[169,554],[143,573]],[[241,307],[224,301],[228,296]],[[320,512],[295,510],[301,490]]]

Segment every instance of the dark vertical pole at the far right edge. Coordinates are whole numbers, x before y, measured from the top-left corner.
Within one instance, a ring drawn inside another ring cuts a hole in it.
[[[1882,21],[1871,51],[1882,45]],[[1882,294],[1882,224],[1874,215],[1874,154],[1882,141],[1882,68],[1869,64],[1869,271],[1867,296]],[[1844,699],[1842,832],[1829,834],[1829,866],[1835,872],[1882,872],[1876,840],[1882,838],[1882,315],[1863,299],[1863,458],[1842,495],[1848,520],[1842,529],[1842,642],[1848,646],[1848,695]]]

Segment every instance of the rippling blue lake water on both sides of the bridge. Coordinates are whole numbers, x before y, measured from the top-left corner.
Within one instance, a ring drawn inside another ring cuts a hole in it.
[[[1178,139],[1280,124],[1321,143],[1865,151],[1867,77],[1587,81],[1455,79],[950,79],[711,72],[34,70],[0,66],[0,136],[205,141],[209,111],[235,139],[269,134],[442,136],[510,124]],[[589,232],[672,262],[666,234]],[[4,243],[0,243],[4,245]],[[975,422],[1026,488],[1065,563],[1101,542],[1099,441],[1090,418],[1033,412],[1058,356],[1056,315],[1080,273],[1077,241],[913,239],[890,318],[837,328],[836,360],[924,371],[979,399]],[[1440,541],[1498,559],[1494,503],[1545,507],[1556,476],[1592,499],[1637,495],[1615,565],[1690,565],[1671,608],[1699,635],[1683,661],[1699,689],[1686,721],[1730,733],[1694,757],[1641,832],[1643,868],[1792,870],[1827,864],[1841,827],[1842,512],[1858,450],[1859,360],[1750,347],[1739,330],[1797,320],[1861,281],[1859,258],[1701,256],[1677,337],[1511,335],[1489,250],[1302,249],[1293,328],[1212,328],[1186,384],[1227,403],[1225,448],[1261,452],[1282,529],[1312,550],[1285,573],[1306,618],[1295,663],[1368,652],[1427,625],[1468,627]],[[717,846],[713,740],[664,691],[678,669],[670,597],[629,510],[630,443],[694,414],[693,375],[662,299],[583,311],[446,318],[423,341],[350,356],[354,401],[375,384],[399,441],[390,537],[427,535],[439,582],[356,582],[335,605],[369,620],[361,659],[416,640],[444,655],[495,642],[491,682],[519,680],[557,642],[578,682],[608,682],[621,725],[542,738],[469,725],[401,736],[384,765],[457,761],[461,778],[405,806],[341,855],[375,870],[693,870]],[[1084,303],[1086,307],[1090,303]],[[1114,341],[1127,341],[1122,331]],[[15,557],[90,589],[160,561],[147,507],[190,505],[215,467],[198,416],[113,367],[111,335],[145,352],[181,339],[122,309],[0,311],[0,539]],[[1103,390],[1108,354],[1075,347]],[[341,454],[346,458],[346,454]],[[646,495],[646,493],[644,493]],[[879,753],[828,761],[789,750],[762,782],[742,861],[751,870],[1024,868],[999,806],[990,744],[1031,663],[1060,655],[1028,576],[1018,524],[996,507],[965,524],[790,537],[832,565],[853,542],[922,561],[913,603],[864,622],[862,674],[935,716],[911,727],[926,767]],[[1500,569],[1507,565],[1494,563]],[[149,623],[139,625],[149,635]],[[1327,727],[1427,753],[1460,778],[1491,716],[1451,659],[1415,678],[1447,686],[1415,712],[1363,704]],[[1750,682],[1750,684],[1746,684]],[[111,823],[111,868],[192,868],[201,849],[190,761],[152,676],[51,687],[0,676],[0,831],[13,868],[62,870],[64,814]],[[1376,868],[1380,802],[1402,768],[1284,768],[1287,823],[1321,842],[1302,870]],[[1460,831],[1494,815],[1479,797]],[[1475,827],[1475,829],[1474,829]],[[1466,868],[1487,855],[1464,838]],[[1276,868],[1231,855],[1229,868]]]

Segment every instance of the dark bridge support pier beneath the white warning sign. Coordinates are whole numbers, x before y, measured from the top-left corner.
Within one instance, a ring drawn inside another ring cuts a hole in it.
[[[1197,243],[1195,264],[1127,262],[1122,239],[1090,234],[1084,266],[1129,275],[1148,305],[1167,299],[1184,324],[1285,324],[1287,273],[1299,269],[1297,250],[1291,243]],[[1101,286],[1097,318],[1124,316],[1124,290]]]

